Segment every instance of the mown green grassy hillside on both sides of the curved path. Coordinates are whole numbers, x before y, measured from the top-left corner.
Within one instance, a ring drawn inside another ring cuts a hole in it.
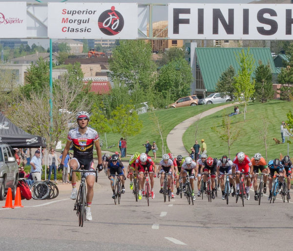
[[[198,105],[193,107],[164,109],[139,115],[139,118],[143,121],[143,128],[140,134],[127,139],[127,153],[132,154],[135,151],[144,152],[145,147],[142,145],[146,143],[146,140],[149,140],[149,142],[157,142],[159,147],[157,156],[162,156],[162,141],[158,131],[158,122],[161,126],[164,150],[168,152],[169,149],[167,148],[166,137],[175,125],[215,106],[218,105]],[[243,106],[240,105],[239,109],[240,111],[243,111]],[[265,146],[263,138],[260,137],[259,133],[264,130],[264,121],[268,123],[268,159],[277,158],[280,156],[280,153],[286,155],[288,144],[275,145],[272,138],[281,140],[280,125],[282,121],[287,119],[286,113],[290,109],[293,109],[293,103],[278,100],[270,101],[265,104],[250,103],[247,107],[246,121],[244,121],[244,113],[230,117],[231,125],[240,128],[241,130],[238,139],[231,146],[231,157],[239,151],[244,151],[250,157],[252,157],[255,152],[260,152],[265,157]],[[217,158],[220,158],[223,154],[228,155],[227,143],[223,142],[211,127],[219,126],[223,114],[228,115],[232,111],[233,106],[229,109],[204,117],[188,127],[183,136],[185,147],[189,150],[190,147],[193,146],[195,138],[198,141],[204,138],[208,148],[208,155]],[[111,146],[112,144],[115,144],[115,146],[109,149],[103,147],[102,151],[111,150],[115,152],[118,150],[117,146],[120,137],[121,135],[119,134],[107,134],[106,139],[108,145]],[[105,140],[105,135],[101,135],[101,138]],[[289,153],[292,155],[293,146],[290,145],[289,148]]]

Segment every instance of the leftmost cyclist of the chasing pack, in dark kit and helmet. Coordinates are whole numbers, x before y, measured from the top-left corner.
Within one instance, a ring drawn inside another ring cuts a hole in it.
[[[124,175],[124,178],[120,178],[120,179],[121,179],[121,183],[122,183],[122,193],[125,193],[124,166],[123,166],[122,162],[119,160],[119,156],[117,154],[113,154],[111,159],[108,162],[108,169],[107,169],[108,179],[110,180],[111,188],[112,188],[112,191],[113,191],[113,195],[112,195],[113,199],[115,199],[115,189],[114,189],[114,178],[115,178],[115,176],[114,175],[116,173],[118,175]]]

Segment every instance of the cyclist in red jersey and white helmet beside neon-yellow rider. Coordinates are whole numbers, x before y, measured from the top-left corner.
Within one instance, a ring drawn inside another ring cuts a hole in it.
[[[138,190],[138,199],[142,199],[142,195],[144,195],[144,185],[145,185],[145,170],[149,172],[149,179],[150,179],[150,187],[151,187],[151,198],[155,198],[154,188],[154,176],[156,177],[156,165],[152,161],[151,157],[146,155],[146,153],[142,153],[139,158],[135,161],[135,171],[138,174],[139,178],[139,190]],[[143,194],[142,194],[143,190]]]

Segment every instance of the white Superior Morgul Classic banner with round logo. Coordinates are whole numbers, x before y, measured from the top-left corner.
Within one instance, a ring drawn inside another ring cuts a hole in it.
[[[50,39],[137,39],[137,3],[48,3]]]

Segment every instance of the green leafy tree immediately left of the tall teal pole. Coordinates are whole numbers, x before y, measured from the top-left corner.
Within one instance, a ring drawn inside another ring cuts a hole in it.
[[[29,98],[32,91],[41,93],[45,86],[49,86],[49,79],[49,63],[40,57],[36,64],[31,63],[24,76],[22,91],[25,97]]]

